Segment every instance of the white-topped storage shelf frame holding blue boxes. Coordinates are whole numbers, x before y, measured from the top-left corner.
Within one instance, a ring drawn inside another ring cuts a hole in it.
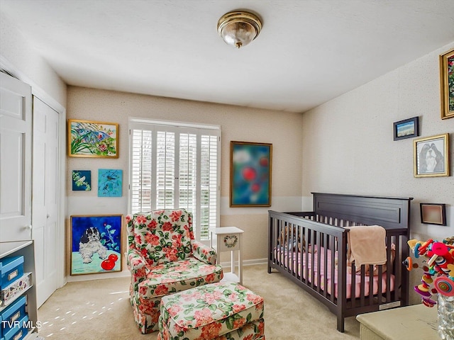
[[[27,295],[27,305],[26,311],[28,314],[28,319],[31,324],[35,326],[38,321],[38,306],[36,302],[36,287],[35,287],[35,250],[33,241],[16,241],[16,242],[0,242],[0,259],[3,259],[6,256],[23,256],[23,272],[24,275],[31,273],[31,286],[14,297],[13,300],[8,301],[5,305],[0,307],[0,312],[19,297]],[[32,333],[34,327],[29,330],[28,336],[26,339],[35,339],[37,334]]]

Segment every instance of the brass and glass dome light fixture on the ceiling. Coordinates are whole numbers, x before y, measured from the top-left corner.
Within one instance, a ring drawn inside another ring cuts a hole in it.
[[[257,38],[262,29],[262,21],[253,13],[246,11],[228,12],[218,21],[218,33],[233,47],[243,47]]]

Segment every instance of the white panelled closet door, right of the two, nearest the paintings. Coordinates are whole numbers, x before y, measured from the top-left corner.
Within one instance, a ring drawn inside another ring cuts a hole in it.
[[[33,97],[33,200],[38,307],[57,289],[59,114]]]

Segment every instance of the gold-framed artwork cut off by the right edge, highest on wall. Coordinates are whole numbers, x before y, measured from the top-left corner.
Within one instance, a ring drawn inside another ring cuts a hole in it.
[[[454,48],[440,56],[441,119],[454,117]]]

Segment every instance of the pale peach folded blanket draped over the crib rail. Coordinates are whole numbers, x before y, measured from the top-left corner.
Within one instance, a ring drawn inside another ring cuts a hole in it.
[[[348,232],[348,254],[355,266],[386,263],[386,230],[379,225],[346,227]]]

